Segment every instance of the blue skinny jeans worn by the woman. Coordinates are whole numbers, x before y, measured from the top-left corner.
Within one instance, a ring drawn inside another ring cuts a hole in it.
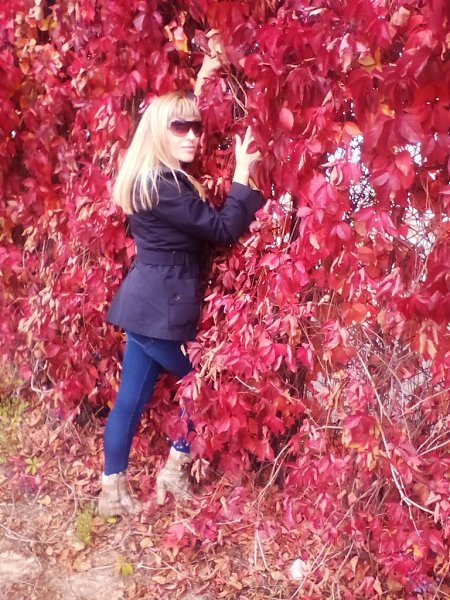
[[[168,371],[181,379],[191,370],[180,342],[126,332],[119,391],[105,427],[105,475],[127,468],[134,432],[160,373]],[[189,452],[185,438],[178,439],[173,446],[180,452]]]

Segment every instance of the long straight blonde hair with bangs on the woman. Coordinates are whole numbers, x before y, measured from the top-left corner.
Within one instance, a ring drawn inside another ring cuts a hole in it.
[[[205,199],[202,185],[192,175],[183,171],[179,162],[169,152],[167,126],[175,118],[200,119],[196,99],[181,90],[155,98],[145,109],[120,162],[113,188],[113,201],[126,214],[136,212],[142,206],[151,208],[153,201],[158,202],[157,180],[164,167],[170,169],[178,189],[180,184],[176,173],[186,176],[202,200]]]

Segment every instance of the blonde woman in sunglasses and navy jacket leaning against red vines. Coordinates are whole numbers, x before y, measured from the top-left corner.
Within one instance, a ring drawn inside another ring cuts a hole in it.
[[[201,79],[206,75],[200,73]],[[260,158],[259,152],[248,152],[250,128],[242,141],[236,136],[236,169],[223,209],[204,202],[201,185],[184,170],[194,160],[201,131],[195,96],[171,92],[157,98],[141,118],[115,183],[114,200],[128,215],[136,256],[107,315],[125,330],[126,344],[120,387],[105,428],[99,498],[104,517],[139,512],[126,480],[136,426],[159,374],[169,371],[181,378],[192,368],[183,344],[196,334],[203,243],[236,242],[263,203],[248,186],[249,167]],[[158,503],[167,491],[176,498],[189,496],[190,462],[182,438],[157,476]]]

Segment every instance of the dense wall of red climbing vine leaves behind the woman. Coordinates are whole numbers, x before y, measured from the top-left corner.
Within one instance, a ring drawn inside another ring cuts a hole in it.
[[[190,346],[197,375],[181,392],[193,452],[220,450],[231,472],[282,467],[285,520],[273,526],[307,522],[324,548],[350,548],[342,571],[355,594],[381,593],[374,564],[400,597],[439,584],[450,513],[448,3],[8,5],[3,362],[64,418],[113,401],[122,336],[104,315],[133,245],[111,181],[143,107],[192,88],[216,27],[227,64],[200,99],[198,173],[220,204],[233,134],[253,124],[268,201],[242,243],[217,251]],[[152,412],[169,433],[183,426],[171,383]]]

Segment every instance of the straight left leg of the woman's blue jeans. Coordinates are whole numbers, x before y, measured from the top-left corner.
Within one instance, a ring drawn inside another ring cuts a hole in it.
[[[106,475],[127,468],[136,426],[161,371],[161,365],[127,336],[119,391],[105,427]]]

